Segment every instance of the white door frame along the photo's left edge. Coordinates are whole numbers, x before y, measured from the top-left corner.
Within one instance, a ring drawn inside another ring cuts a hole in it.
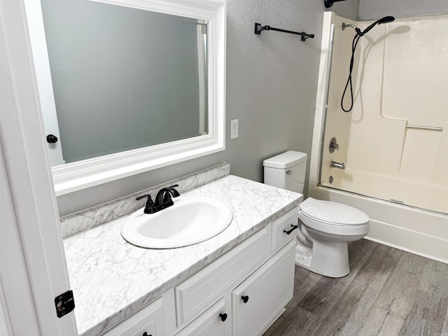
[[[69,290],[25,0],[0,0],[0,275],[10,335],[78,335],[56,315]],[[76,302],[76,293],[75,293]]]

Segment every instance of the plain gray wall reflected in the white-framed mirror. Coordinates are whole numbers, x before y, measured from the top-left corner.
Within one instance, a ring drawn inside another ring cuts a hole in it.
[[[42,4],[67,163],[199,135],[194,20],[83,0]]]

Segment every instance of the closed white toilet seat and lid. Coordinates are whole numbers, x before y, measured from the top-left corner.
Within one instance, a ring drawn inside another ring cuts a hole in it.
[[[363,211],[312,197],[299,205],[299,218],[309,228],[331,235],[366,235],[370,228],[370,219]]]

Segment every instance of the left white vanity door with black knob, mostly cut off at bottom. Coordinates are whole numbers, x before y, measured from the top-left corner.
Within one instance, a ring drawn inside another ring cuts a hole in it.
[[[230,323],[229,314],[222,298],[176,336],[225,336],[226,324]]]

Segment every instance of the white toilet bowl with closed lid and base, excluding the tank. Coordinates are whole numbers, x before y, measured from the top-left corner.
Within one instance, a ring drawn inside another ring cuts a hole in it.
[[[299,205],[299,228],[296,265],[339,278],[350,272],[347,243],[367,235],[370,219],[348,205],[309,197]]]

